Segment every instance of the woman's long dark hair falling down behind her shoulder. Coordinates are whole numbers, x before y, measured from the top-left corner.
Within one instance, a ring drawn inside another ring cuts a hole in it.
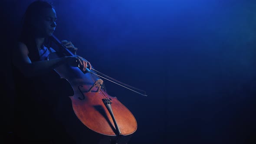
[[[42,15],[43,9],[45,8],[54,8],[53,3],[50,3],[46,0],[36,0],[27,7],[26,12],[24,13],[21,24],[21,33],[19,41],[25,43],[29,50],[29,57],[31,61],[39,60],[39,52],[36,48],[36,42],[34,39],[35,29],[32,25],[33,20],[36,20],[37,17]],[[49,43],[49,42],[48,42]],[[44,43],[49,48],[49,45]]]

